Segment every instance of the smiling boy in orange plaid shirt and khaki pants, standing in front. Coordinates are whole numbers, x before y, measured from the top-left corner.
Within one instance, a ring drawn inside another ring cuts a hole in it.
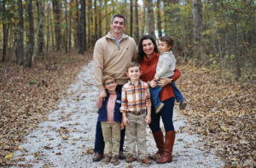
[[[140,64],[131,63],[127,66],[126,75],[130,81],[122,88],[122,104],[120,112],[123,114],[123,124],[126,126],[128,157],[126,162],[138,158],[145,164],[151,164],[147,157],[146,124],[151,121],[151,102],[148,84],[140,80]]]

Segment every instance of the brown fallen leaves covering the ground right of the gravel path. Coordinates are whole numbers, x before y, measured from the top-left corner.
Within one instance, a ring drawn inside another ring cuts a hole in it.
[[[227,167],[253,166],[250,160],[256,160],[255,85],[235,81],[223,84],[219,71],[190,64],[179,68],[183,76],[177,87],[189,103],[180,112],[188,116],[192,125],[189,128],[204,137],[206,149],[216,149]]]

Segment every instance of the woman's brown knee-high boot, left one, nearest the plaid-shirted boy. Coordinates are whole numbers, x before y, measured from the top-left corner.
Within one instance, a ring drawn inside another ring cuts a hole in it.
[[[150,160],[158,160],[164,154],[165,142],[163,132],[160,130],[158,132],[154,132],[153,134],[154,142],[156,143],[156,147],[158,151],[156,154],[148,156]]]

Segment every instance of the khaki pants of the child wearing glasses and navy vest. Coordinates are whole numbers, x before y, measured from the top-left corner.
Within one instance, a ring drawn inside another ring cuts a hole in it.
[[[119,155],[120,123],[102,122],[102,134],[105,142],[104,154]]]

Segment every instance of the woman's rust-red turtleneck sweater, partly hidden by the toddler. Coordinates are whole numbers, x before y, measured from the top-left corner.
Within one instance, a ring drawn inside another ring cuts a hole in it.
[[[154,74],[156,70],[156,65],[160,57],[159,53],[153,53],[149,59],[146,56],[143,57],[143,62],[141,63],[142,75],[141,78],[143,81],[148,82],[154,79]],[[176,81],[180,77],[180,71],[175,68],[174,75],[172,80]],[[160,92],[160,99],[163,102],[168,98],[174,97],[173,88],[171,85],[166,85]]]

